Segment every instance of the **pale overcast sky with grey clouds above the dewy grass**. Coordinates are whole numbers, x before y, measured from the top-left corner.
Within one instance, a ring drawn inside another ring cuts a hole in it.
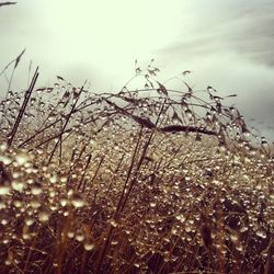
[[[13,89],[25,88],[32,60],[39,85],[60,75],[112,91],[135,59],[155,58],[160,80],[191,70],[194,89],[237,93],[229,102],[274,139],[273,15],[274,0],[18,0],[0,8],[0,70],[26,48]]]

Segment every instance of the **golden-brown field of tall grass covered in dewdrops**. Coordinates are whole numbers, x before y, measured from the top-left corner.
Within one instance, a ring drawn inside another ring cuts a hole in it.
[[[158,71],[96,94],[37,69],[1,100],[0,273],[271,273],[272,144]]]

